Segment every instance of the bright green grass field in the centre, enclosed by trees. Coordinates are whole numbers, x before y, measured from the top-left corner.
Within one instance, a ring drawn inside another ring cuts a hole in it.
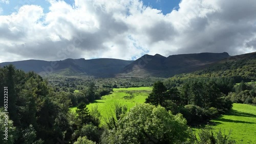
[[[126,100],[123,97],[129,95],[126,92],[131,91],[135,94],[135,98]],[[109,95],[104,95],[101,100],[96,100],[94,103],[87,105],[89,110],[95,105],[98,106],[98,110],[101,114],[101,123],[103,123],[103,117],[107,117],[111,114],[110,111],[115,103],[126,105],[128,110],[135,106],[136,103],[144,103],[148,94],[152,92],[152,87],[131,87],[131,88],[114,88],[113,92]],[[70,108],[72,112],[75,112],[76,107]]]

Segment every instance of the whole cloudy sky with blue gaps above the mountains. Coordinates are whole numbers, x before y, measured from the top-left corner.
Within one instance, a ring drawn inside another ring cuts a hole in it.
[[[254,51],[255,0],[0,0],[0,62]]]

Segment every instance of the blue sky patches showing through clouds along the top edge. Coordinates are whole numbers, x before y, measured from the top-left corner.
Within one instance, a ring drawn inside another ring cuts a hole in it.
[[[6,1],[6,0],[0,0]],[[73,0],[64,0],[66,3],[73,5]],[[143,5],[150,6],[154,9],[161,10],[163,14],[170,13],[173,9],[179,8],[180,0],[143,0]],[[46,0],[10,0],[8,4],[0,3],[0,8],[3,9],[2,15],[10,15],[16,12],[23,5],[38,5],[44,9],[44,13],[49,12],[50,3]]]

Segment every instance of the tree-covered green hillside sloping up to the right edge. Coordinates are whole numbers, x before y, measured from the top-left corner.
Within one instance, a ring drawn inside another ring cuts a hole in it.
[[[243,55],[228,57],[205,65],[203,69],[187,74],[179,74],[176,78],[195,78],[195,77],[230,77],[235,82],[242,80],[250,82],[256,80],[256,52]]]

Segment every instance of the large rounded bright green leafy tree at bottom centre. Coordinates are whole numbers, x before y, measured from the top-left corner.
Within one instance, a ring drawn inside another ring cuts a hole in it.
[[[182,143],[190,137],[185,118],[161,106],[137,104],[109,130],[102,143]]]

